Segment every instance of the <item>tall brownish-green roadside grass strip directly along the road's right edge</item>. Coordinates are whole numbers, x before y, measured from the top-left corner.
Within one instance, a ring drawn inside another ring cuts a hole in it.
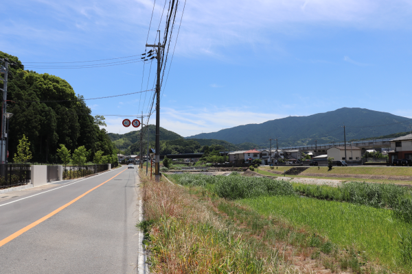
[[[246,237],[207,200],[162,179],[144,183],[144,223],[152,273],[307,273],[279,263],[279,251]]]

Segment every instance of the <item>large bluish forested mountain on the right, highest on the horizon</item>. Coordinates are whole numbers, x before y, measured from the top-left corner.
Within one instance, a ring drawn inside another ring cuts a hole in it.
[[[240,125],[218,132],[203,133],[187,138],[219,139],[233,142],[254,142],[268,147],[269,138],[277,138],[280,146],[306,145],[343,141],[343,124],[346,140],[384,136],[407,129],[412,119],[387,112],[365,108],[340,108],[310,116],[289,116],[261,124]],[[273,145],[273,142],[272,142]]]

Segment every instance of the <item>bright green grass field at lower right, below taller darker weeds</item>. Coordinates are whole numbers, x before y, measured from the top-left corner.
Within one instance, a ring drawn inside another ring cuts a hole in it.
[[[308,227],[341,248],[357,247],[369,260],[389,266],[402,264],[402,250],[411,252],[410,237],[405,247],[399,241],[400,235],[412,233],[412,224],[394,218],[391,210],[296,196],[256,197],[239,202],[264,216],[281,216],[294,225]]]

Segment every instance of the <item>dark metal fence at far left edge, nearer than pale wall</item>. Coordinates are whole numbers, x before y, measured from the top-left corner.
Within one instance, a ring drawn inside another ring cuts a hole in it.
[[[30,164],[0,164],[0,188],[30,183]]]

